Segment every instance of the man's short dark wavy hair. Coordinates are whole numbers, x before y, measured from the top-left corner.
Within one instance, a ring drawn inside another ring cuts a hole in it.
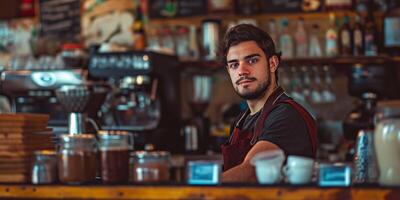
[[[229,48],[246,41],[255,41],[263,50],[267,59],[275,55],[279,61],[281,60],[281,53],[276,52],[274,41],[267,32],[251,24],[239,24],[230,28],[222,40],[219,54],[225,66],[227,65],[226,56]],[[278,70],[275,71],[275,77],[278,82],[277,72]]]

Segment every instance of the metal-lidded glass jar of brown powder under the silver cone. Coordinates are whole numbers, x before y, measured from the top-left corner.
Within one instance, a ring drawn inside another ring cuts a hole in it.
[[[61,135],[58,159],[62,183],[89,183],[97,172],[97,141],[94,135]]]

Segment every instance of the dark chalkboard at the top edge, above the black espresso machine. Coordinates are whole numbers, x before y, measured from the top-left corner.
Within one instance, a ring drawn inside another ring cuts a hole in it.
[[[150,0],[151,18],[187,17],[207,13],[207,0]]]

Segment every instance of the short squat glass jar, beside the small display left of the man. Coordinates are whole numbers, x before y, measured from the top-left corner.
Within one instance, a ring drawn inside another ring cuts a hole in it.
[[[171,155],[166,151],[136,151],[131,153],[133,182],[165,182],[169,180]]]

